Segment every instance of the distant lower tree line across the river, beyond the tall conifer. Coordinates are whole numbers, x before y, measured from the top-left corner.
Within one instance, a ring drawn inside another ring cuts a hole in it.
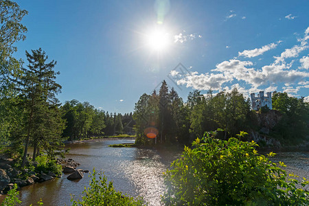
[[[60,107],[62,119],[65,119],[65,130],[62,137],[70,141],[103,135],[133,134],[132,113],[108,113],[95,108],[89,102],[71,100]]]

